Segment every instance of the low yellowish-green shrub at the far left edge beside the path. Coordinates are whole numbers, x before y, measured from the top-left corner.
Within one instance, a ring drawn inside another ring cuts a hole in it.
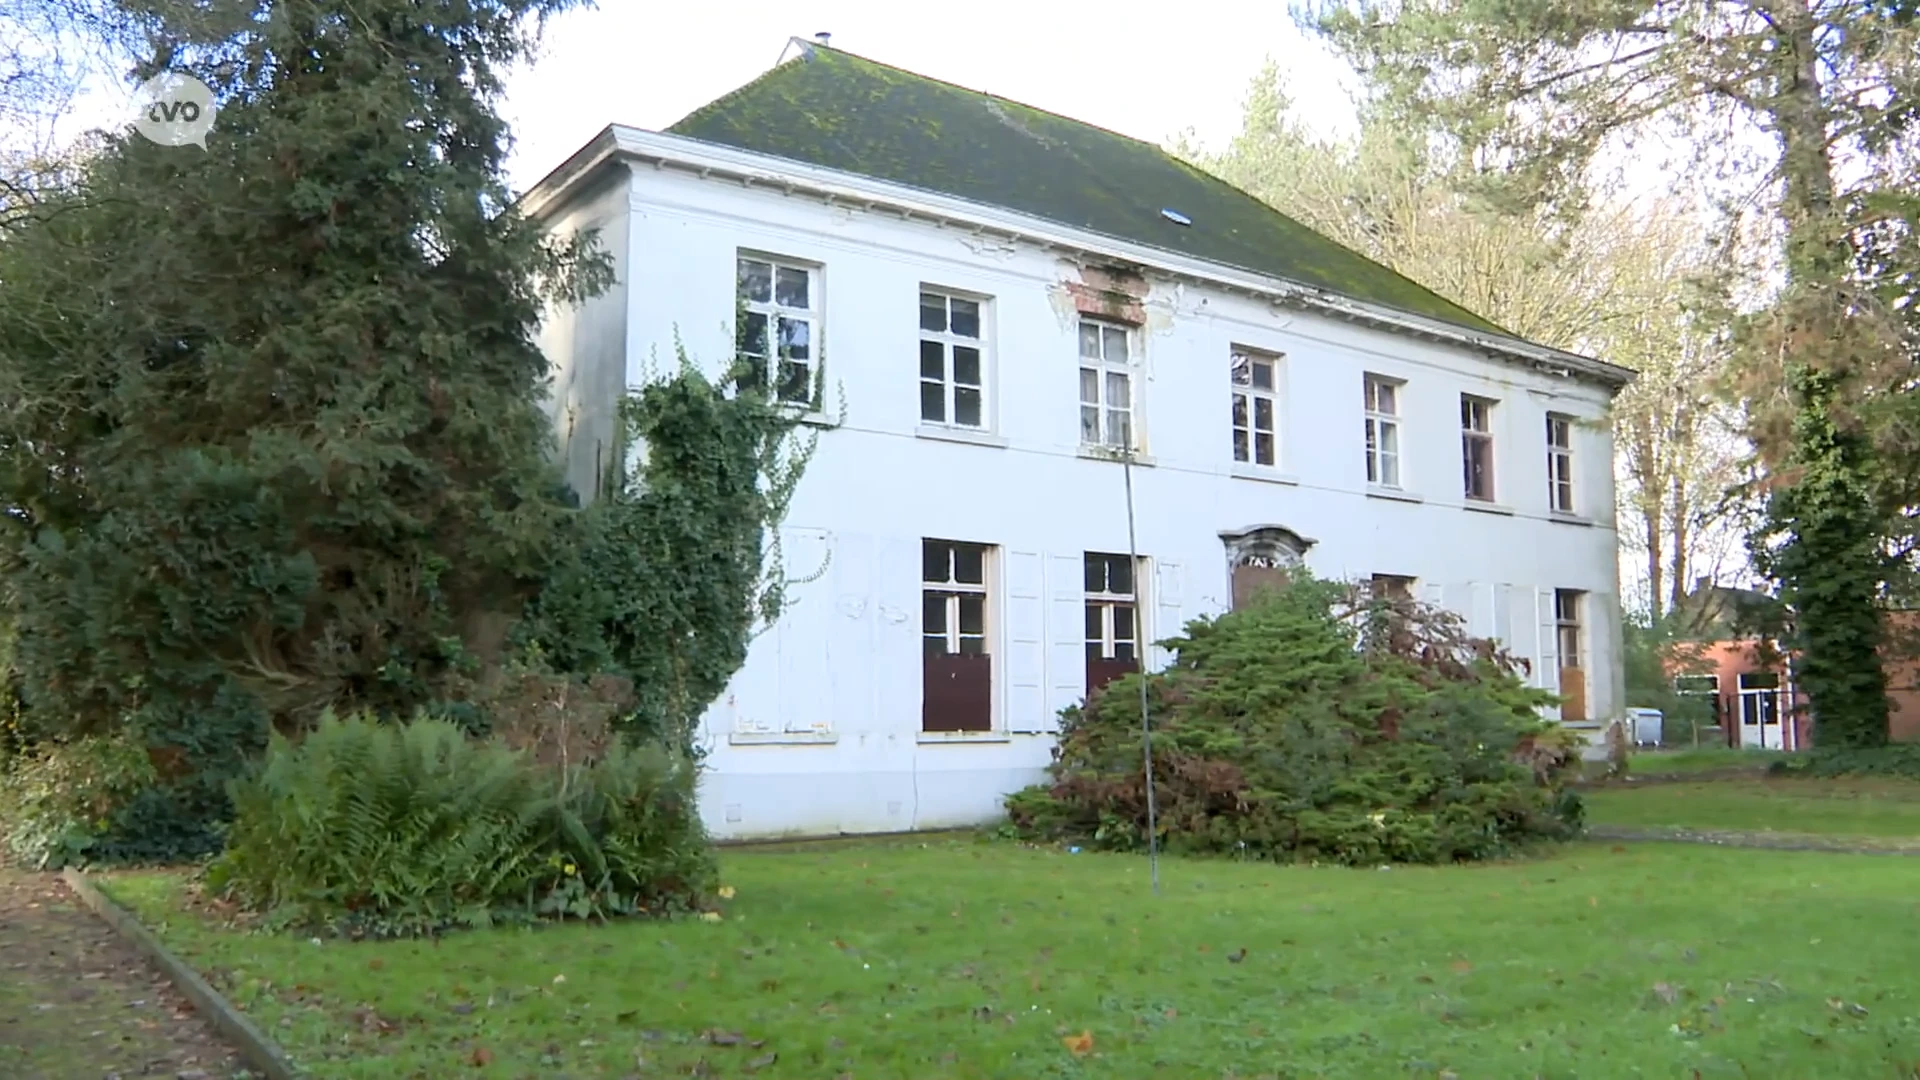
[[[125,832],[156,784],[146,748],[129,738],[21,749],[0,773],[0,840],[35,869],[90,863]]]

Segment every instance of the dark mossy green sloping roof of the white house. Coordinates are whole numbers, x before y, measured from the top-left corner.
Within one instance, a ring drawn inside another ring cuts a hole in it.
[[[1498,327],[1165,150],[1112,131],[806,44],[668,129],[1427,315]],[[1192,221],[1179,225],[1160,211]]]

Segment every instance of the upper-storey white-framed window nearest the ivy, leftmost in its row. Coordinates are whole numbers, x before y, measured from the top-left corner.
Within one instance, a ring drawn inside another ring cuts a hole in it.
[[[814,367],[820,363],[820,271],[806,263],[772,256],[741,254],[735,263],[739,284],[743,379],[766,386],[781,402],[814,404]]]

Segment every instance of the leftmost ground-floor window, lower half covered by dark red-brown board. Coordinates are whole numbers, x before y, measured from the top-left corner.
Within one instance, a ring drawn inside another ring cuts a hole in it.
[[[922,542],[920,726],[993,730],[993,657],[987,651],[987,546]]]

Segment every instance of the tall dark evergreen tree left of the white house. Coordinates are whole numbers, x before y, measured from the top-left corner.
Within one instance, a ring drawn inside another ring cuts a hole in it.
[[[132,728],[217,798],[269,724],[497,657],[566,513],[534,331],[605,279],[501,181],[499,73],[568,6],[127,4],[136,75],[219,113],[205,150],[109,136],[0,244],[0,569],[42,723]]]

